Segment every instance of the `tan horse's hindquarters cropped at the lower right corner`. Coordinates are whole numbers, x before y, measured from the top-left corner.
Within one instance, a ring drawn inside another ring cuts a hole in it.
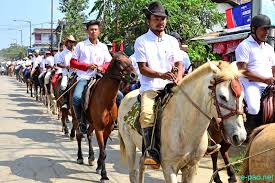
[[[275,175],[275,124],[254,129],[246,147],[240,175],[244,182],[273,182]]]

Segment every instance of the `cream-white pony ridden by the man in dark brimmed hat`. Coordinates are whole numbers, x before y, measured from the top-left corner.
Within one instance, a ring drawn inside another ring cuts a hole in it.
[[[179,170],[182,182],[192,182],[198,162],[207,149],[207,128],[212,117],[211,121],[230,144],[238,146],[245,141],[244,93],[239,76],[236,65],[208,62],[185,76],[173,89],[174,94],[163,109],[160,127],[161,166],[167,183],[177,182]],[[131,113],[138,95],[138,90],[128,93],[118,110],[121,160],[127,159],[131,183],[144,182],[145,171],[142,158],[139,174],[135,164],[136,147],[142,149],[142,136],[125,118]],[[130,121],[136,116],[135,113]]]

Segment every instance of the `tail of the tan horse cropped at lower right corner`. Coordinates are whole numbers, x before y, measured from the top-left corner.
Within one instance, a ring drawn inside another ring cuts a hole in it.
[[[251,144],[252,144],[253,140],[255,139],[255,137],[267,126],[268,126],[268,124],[261,125],[258,128],[256,128],[255,130],[253,130],[252,134],[249,137],[249,139],[250,139],[249,143],[246,147],[246,152],[245,152],[245,156],[244,156],[245,158],[249,157]],[[250,175],[249,174],[249,158],[243,161],[243,164],[242,164],[242,167],[241,167],[241,170],[240,170],[239,174],[244,175],[244,176]]]

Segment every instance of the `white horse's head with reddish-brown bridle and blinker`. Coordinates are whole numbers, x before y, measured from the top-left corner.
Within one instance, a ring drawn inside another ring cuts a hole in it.
[[[228,143],[238,146],[246,139],[244,128],[244,92],[239,82],[236,65],[226,62],[209,62],[213,71],[209,89],[214,100],[217,116],[212,120]]]

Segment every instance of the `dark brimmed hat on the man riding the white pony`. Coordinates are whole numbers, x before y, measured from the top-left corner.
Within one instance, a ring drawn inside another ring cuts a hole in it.
[[[168,11],[164,9],[164,7],[160,4],[160,2],[152,2],[149,4],[148,8],[144,8],[143,12],[146,16],[148,15],[156,15],[160,17],[167,17]]]

